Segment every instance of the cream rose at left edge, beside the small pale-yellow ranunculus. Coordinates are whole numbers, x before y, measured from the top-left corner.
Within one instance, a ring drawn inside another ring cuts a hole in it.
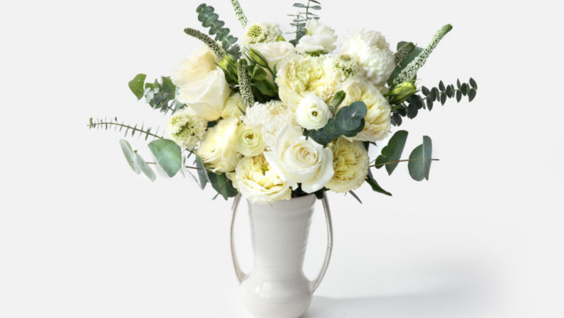
[[[242,156],[235,150],[237,123],[234,117],[219,120],[204,135],[196,153],[211,172],[229,173],[239,163]]]

